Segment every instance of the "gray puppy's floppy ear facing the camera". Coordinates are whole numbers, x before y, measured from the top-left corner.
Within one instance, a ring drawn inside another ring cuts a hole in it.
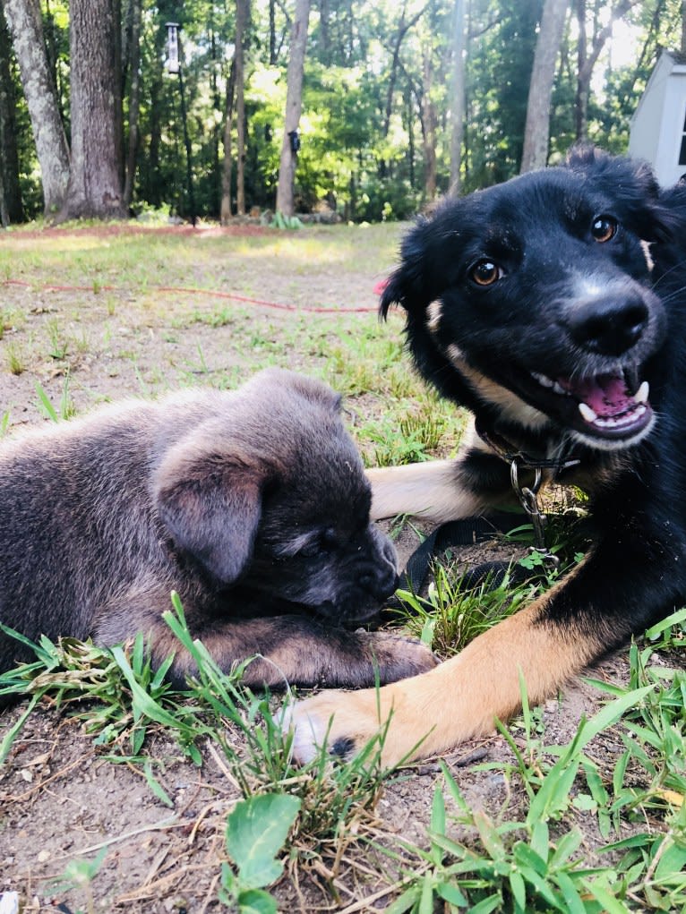
[[[247,455],[182,441],[156,474],[155,507],[176,546],[230,584],[252,558],[267,476]]]

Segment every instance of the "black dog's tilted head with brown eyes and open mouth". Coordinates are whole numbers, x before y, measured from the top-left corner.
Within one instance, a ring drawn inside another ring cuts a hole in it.
[[[487,423],[627,447],[653,422],[665,317],[649,245],[669,232],[647,166],[577,148],[423,218],[381,313],[402,304],[424,376]]]

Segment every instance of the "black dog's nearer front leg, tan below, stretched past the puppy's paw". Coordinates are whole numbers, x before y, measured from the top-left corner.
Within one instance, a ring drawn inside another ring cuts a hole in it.
[[[665,578],[666,560],[673,579]],[[617,531],[552,591],[429,673],[380,692],[324,692],[298,703],[297,756],[309,759],[325,738],[334,750],[354,752],[387,721],[382,756],[389,764],[490,732],[495,718],[505,720],[520,707],[520,675],[531,703],[540,702],[679,605],[683,581],[676,568],[683,562],[682,545]]]

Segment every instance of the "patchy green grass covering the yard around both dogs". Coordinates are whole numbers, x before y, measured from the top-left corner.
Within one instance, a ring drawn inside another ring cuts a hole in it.
[[[117,394],[155,395],[184,384],[234,387],[260,367],[279,365],[321,377],[344,394],[348,426],[369,464],[455,452],[464,417],[414,375],[395,316],[381,325],[374,314],[284,314],[158,291],[192,286],[287,298],[300,309],[356,306],[395,260],[399,231],[303,228],[190,242],[149,229],[106,239],[81,231],[37,239],[13,231],[0,245],[0,276],[29,285],[5,287],[0,433],[11,433],[12,421],[27,415],[61,421],[107,399],[102,367],[119,378]],[[48,293],[47,284],[82,291]],[[146,364],[153,344],[155,357]],[[13,371],[13,353],[21,374]],[[24,387],[10,400],[4,385],[15,391],[17,384]],[[572,564],[577,546],[565,541],[566,526],[555,523],[551,532]],[[469,592],[457,586],[449,558],[435,570],[427,600],[406,595],[403,622],[443,655],[555,577]],[[366,909],[371,889],[364,880],[371,878],[379,905],[390,903],[391,914],[686,911],[686,612],[632,645],[626,686],[597,684],[607,704],[581,722],[568,745],[550,744],[540,709],[524,700],[522,715],[502,730],[510,760],[491,763],[507,785],[500,807],[469,808],[456,774],[444,765],[434,777],[430,825],[414,843],[378,819],[381,794],[394,778],[413,778],[413,770],[383,771],[378,740],[351,763],[333,765],[322,753],[295,768],[280,724],[281,699],[243,689],[240,671],[222,675],[188,638],[178,604],[170,604],[166,620],[198,662],[199,675],[184,691],[172,690],[164,671],[151,669],[140,637],[112,651],[69,639],[38,643],[34,664],[0,677],[0,690],[27,696],[16,725],[2,736],[0,764],[44,703],[78,716],[102,757],[141,771],[163,804],[171,801],[157,776],[155,736],[175,739],[193,764],[211,744],[245,803],[230,813],[235,818],[227,812],[216,887],[217,898],[241,910],[251,904],[273,910],[278,887],[272,883],[283,872],[292,879],[311,874],[320,885],[324,879],[332,908],[339,907],[345,858],[359,910]],[[609,765],[594,748],[603,739],[619,747]],[[250,828],[262,833],[273,822],[273,840],[261,848]],[[237,843],[237,833],[247,836]],[[64,879],[83,887],[92,906],[96,869],[106,861],[73,864]]]

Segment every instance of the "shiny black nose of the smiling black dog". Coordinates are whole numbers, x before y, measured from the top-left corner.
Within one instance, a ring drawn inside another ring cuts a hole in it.
[[[568,325],[573,339],[603,356],[621,356],[638,343],[648,324],[648,306],[638,292],[594,296],[574,306]]]

